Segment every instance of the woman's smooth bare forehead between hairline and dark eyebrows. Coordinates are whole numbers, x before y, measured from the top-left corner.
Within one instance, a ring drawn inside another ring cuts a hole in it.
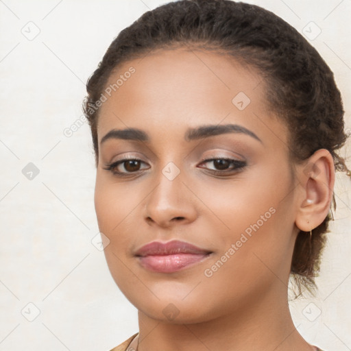
[[[224,119],[255,125],[273,115],[265,90],[261,75],[231,56],[179,48],[153,51],[110,75],[99,111],[99,140],[111,128],[147,130],[163,124],[177,129]]]

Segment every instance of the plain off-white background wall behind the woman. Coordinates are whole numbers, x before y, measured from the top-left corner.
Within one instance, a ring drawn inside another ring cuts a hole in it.
[[[138,330],[136,309],[93,245],[95,166],[81,105],[112,39],[165,2],[0,1],[0,350],[104,351]],[[335,72],[350,130],[351,1],[248,2],[300,32],[311,21],[322,30],[311,43]],[[351,350],[350,184],[340,175],[335,187],[319,293],[291,302],[300,333],[330,351]]]

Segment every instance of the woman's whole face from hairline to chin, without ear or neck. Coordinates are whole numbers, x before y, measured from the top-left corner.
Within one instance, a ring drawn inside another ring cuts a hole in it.
[[[174,49],[125,62],[106,87],[95,209],[130,302],[195,323],[285,295],[295,188],[260,75]]]

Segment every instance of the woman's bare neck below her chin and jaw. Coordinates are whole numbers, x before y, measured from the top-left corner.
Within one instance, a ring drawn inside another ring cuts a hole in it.
[[[284,285],[206,322],[169,324],[141,311],[138,320],[138,351],[313,350],[293,324]]]

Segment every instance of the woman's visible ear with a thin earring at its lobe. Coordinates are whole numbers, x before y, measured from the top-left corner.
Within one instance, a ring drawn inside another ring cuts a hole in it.
[[[326,149],[317,150],[298,167],[300,191],[296,226],[304,231],[313,230],[324,221],[330,210],[335,184],[334,161]]]

